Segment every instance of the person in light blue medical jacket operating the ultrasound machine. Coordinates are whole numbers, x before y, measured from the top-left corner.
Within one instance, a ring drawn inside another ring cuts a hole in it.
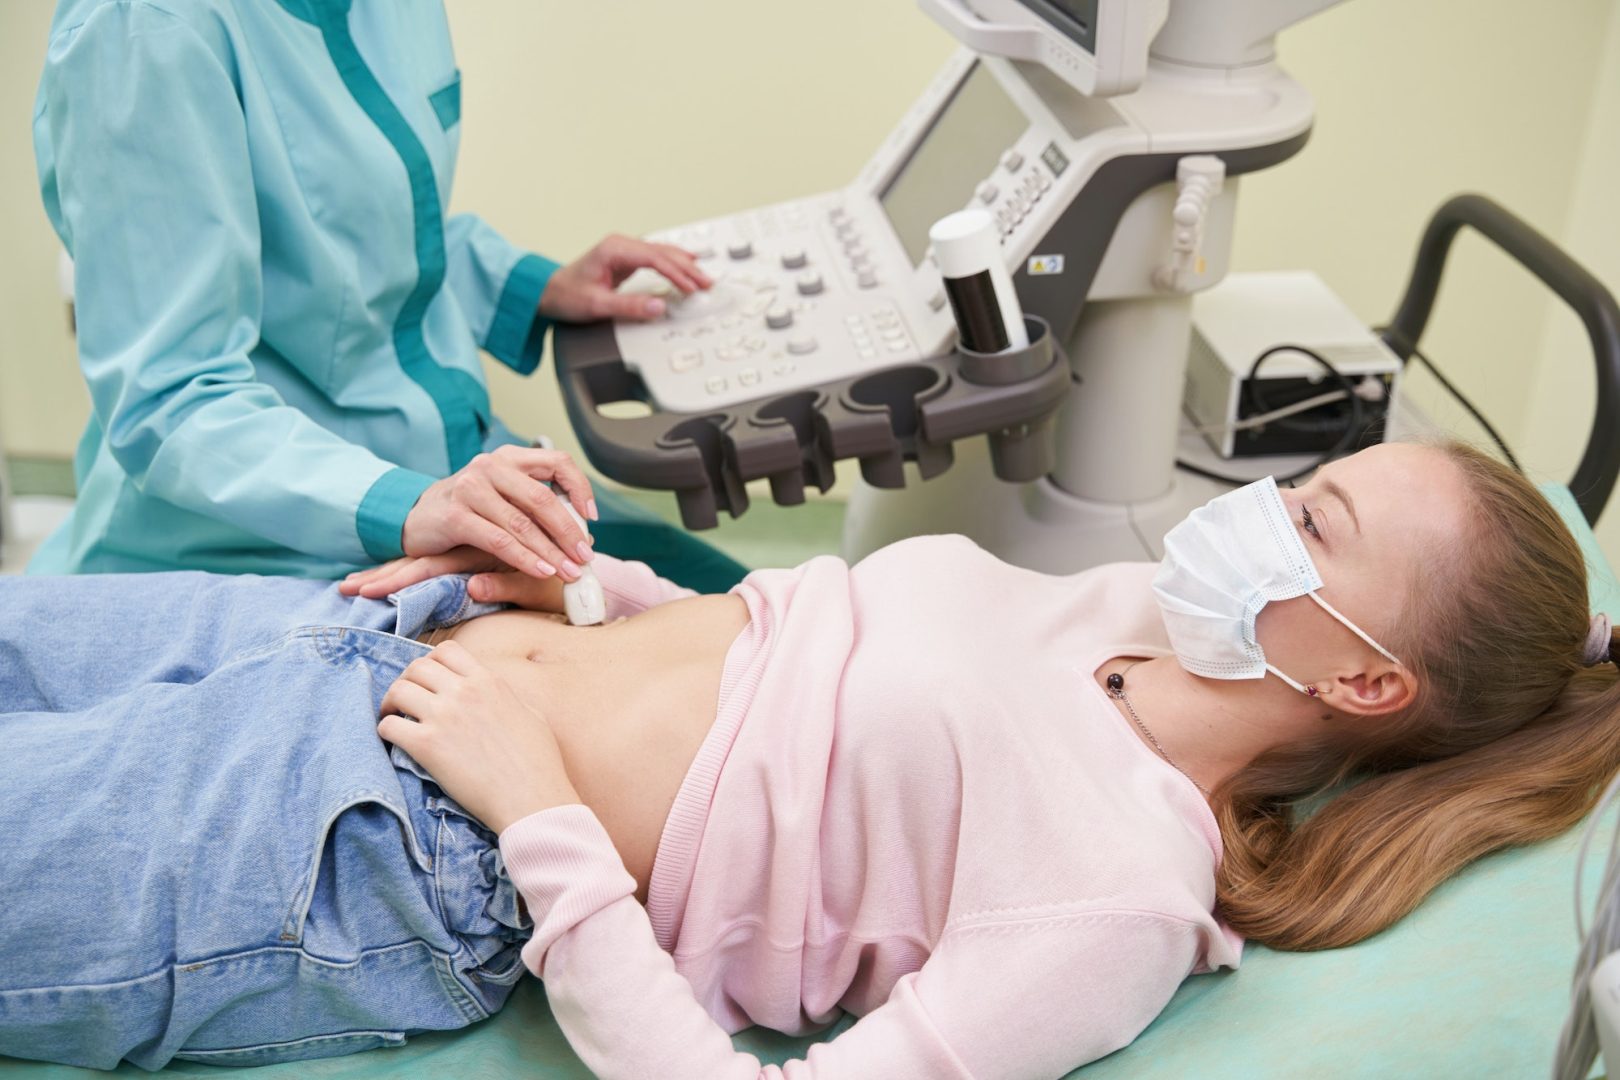
[[[710,282],[666,244],[559,267],[446,217],[460,87],[441,0],[58,3],[34,147],[92,418],[32,572],[339,576],[473,546],[573,575],[546,481],[582,512],[590,486],[512,445],[478,351],[528,374],[551,319],[656,317],[614,291],[633,269]]]

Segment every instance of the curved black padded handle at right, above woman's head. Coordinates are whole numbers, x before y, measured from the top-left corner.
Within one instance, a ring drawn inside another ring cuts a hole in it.
[[[1620,306],[1586,267],[1498,202],[1482,194],[1453,196],[1429,219],[1406,295],[1383,330],[1383,342],[1401,361],[1411,359],[1434,311],[1445,257],[1463,225],[1477,230],[1541,279],[1586,327],[1592,359],[1597,361],[1597,415],[1570,491],[1586,520],[1596,523],[1620,476]]]

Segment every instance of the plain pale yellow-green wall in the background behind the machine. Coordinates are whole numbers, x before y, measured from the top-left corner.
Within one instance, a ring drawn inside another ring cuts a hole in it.
[[[86,398],[28,141],[49,6],[0,5],[0,436],[13,453],[66,455]],[[449,10],[465,71],[455,207],[561,259],[606,232],[846,181],[953,47],[907,0],[449,0]],[[1615,282],[1610,241],[1596,235],[1615,236],[1607,193],[1620,188],[1614,10],[1614,0],[1349,0],[1286,31],[1283,63],[1315,96],[1317,130],[1296,160],[1246,178],[1238,269],[1315,269],[1379,321],[1427,214],[1479,189],[1591,251]],[[1542,372],[1542,350],[1557,348],[1549,311],[1523,275],[1464,236],[1426,345],[1533,463],[1558,474],[1554,444],[1570,424],[1562,398],[1541,390],[1565,377]],[[549,364],[528,381],[492,371],[492,384],[514,426],[567,434]]]

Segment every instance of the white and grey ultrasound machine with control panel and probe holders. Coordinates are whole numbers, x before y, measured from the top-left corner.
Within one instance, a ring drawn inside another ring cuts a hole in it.
[[[849,185],[654,233],[714,287],[643,270],[625,288],[666,317],[559,327],[586,457],[688,528],[854,458],[849,557],[959,531],[1050,572],[1157,559],[1213,494],[1174,466],[1194,295],[1239,178],[1311,133],[1273,39],[1332,3],[920,0],[962,49]],[[928,230],[964,207],[1001,233],[1027,348],[957,347]]]

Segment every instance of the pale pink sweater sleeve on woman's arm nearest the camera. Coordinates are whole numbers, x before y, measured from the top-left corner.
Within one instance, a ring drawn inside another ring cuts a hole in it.
[[[1014,920],[951,931],[889,999],[802,1061],[732,1048],[653,936],[606,829],[585,806],[501,834],[535,936],[523,962],[604,1080],[1045,1078],[1129,1043],[1194,960],[1192,933],[1142,913]]]

